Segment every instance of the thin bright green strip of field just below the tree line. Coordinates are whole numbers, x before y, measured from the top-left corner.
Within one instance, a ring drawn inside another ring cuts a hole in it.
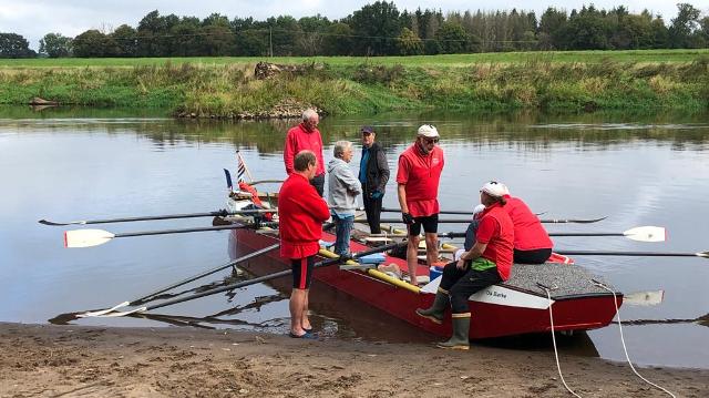
[[[598,63],[648,62],[682,63],[709,58],[709,49],[701,50],[631,50],[631,51],[533,51],[533,52],[489,52],[480,54],[420,55],[420,57],[195,57],[195,58],[97,58],[97,59],[0,59],[0,68],[72,68],[72,67],[134,67],[163,65],[167,62],[203,64],[247,64],[259,61],[276,63],[325,62],[331,65],[357,65],[370,62],[384,65],[402,64],[408,67],[450,65],[460,67],[475,63],[521,63],[521,62],[578,62]]]

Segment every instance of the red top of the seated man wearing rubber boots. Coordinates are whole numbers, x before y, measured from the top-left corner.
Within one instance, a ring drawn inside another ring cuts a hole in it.
[[[495,263],[502,280],[507,280],[514,254],[514,225],[500,204],[495,203],[485,208],[475,241],[487,244],[482,257]]]

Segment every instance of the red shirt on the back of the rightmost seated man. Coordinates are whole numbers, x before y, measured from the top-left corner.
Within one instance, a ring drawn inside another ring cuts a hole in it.
[[[514,224],[514,248],[517,251],[552,248],[554,244],[549,235],[526,203],[510,195],[505,195],[505,198],[507,204],[503,208],[510,214]]]

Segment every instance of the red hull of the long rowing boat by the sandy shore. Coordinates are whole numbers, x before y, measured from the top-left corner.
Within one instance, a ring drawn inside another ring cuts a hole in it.
[[[233,256],[242,256],[278,243],[276,236],[259,234],[247,228],[234,229],[232,238],[235,239]],[[327,233],[323,233],[323,238],[335,241],[333,236]],[[352,242],[351,249],[359,252],[367,249],[367,247]],[[256,258],[242,266],[255,275],[266,275],[290,267],[289,262],[279,256],[278,251],[269,252],[265,256],[267,257]],[[405,262],[400,258],[388,257],[387,264],[390,263],[395,263],[400,268],[407,269]],[[421,266],[419,274],[428,275],[428,269]],[[359,271],[341,271],[337,265],[317,268],[314,278],[420,329],[439,336],[451,335],[449,314],[446,314],[443,324],[438,325],[417,316],[414,313],[417,308],[431,306],[433,294],[407,290]],[[287,288],[290,286],[290,278],[279,280],[277,285]],[[530,292],[522,290],[521,294],[530,296],[537,303],[546,300],[546,297],[540,297],[538,294],[532,295]],[[616,297],[619,307],[623,303],[623,295],[618,294]],[[554,330],[588,330],[604,327],[613,320],[616,314],[614,297],[609,293],[554,298],[552,309]],[[548,305],[544,308],[538,306],[528,308],[470,300],[470,310],[472,314],[470,337],[475,339],[544,333],[552,329]]]

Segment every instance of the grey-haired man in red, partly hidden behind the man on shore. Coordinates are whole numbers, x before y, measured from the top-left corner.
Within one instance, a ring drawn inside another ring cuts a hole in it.
[[[288,130],[286,135],[284,162],[286,163],[286,173],[290,175],[294,172],[294,157],[298,152],[308,150],[315,153],[318,169],[315,177],[310,180],[310,184],[322,196],[325,192],[325,161],[322,160],[322,137],[318,130],[319,122],[320,116],[315,110],[308,109],[302,112],[302,122]]]

